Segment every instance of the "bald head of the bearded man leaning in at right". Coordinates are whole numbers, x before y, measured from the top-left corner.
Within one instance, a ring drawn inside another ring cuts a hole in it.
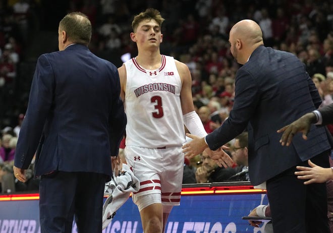
[[[229,41],[237,62],[245,64],[254,49],[263,45],[261,28],[253,20],[239,21],[230,30]]]

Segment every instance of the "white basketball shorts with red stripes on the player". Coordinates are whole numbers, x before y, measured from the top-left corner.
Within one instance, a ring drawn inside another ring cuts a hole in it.
[[[160,194],[163,205],[180,205],[184,169],[181,146],[161,149],[126,146],[125,157],[140,181],[140,190],[133,193],[134,203],[139,196]]]

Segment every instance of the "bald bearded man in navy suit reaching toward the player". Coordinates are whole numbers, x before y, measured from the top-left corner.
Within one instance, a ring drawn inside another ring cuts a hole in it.
[[[328,233],[325,184],[305,186],[294,175],[296,166],[306,165],[309,158],[329,166],[326,131],[314,127],[307,141],[296,135],[289,147],[280,144],[276,132],[320,105],[315,85],[297,56],[263,46],[254,21],[235,24],[229,41],[233,56],[243,65],[236,74],[233,109],[205,138],[188,135],[193,140],[183,146],[184,152],[192,156],[207,147],[216,150],[249,126],[250,181],[266,181],[274,232]]]

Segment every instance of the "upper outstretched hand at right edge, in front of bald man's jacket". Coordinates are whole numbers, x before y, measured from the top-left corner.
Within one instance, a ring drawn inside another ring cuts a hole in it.
[[[281,145],[289,146],[295,136],[296,133],[302,132],[303,139],[307,140],[307,134],[310,131],[311,123],[314,122],[314,119],[316,119],[316,116],[314,113],[310,112],[305,115],[303,115],[298,120],[294,121],[288,126],[285,126],[278,130],[278,133],[283,133],[280,143]]]

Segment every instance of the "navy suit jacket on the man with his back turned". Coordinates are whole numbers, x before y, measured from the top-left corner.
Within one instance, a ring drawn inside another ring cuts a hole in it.
[[[15,166],[28,168],[36,150],[35,176],[84,171],[112,176],[126,115],[117,68],[82,44],[42,54],[18,138]],[[38,149],[37,149],[38,147]]]

